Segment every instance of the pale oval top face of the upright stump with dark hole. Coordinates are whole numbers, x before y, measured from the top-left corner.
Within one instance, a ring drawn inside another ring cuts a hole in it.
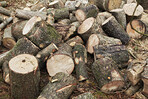
[[[29,54],[21,54],[9,61],[10,70],[26,74],[35,71],[38,68],[37,59]]]

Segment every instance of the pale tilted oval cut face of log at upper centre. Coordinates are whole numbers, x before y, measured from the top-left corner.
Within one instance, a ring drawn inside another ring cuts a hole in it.
[[[93,23],[95,22],[95,18],[90,17],[87,18],[78,28],[78,33],[79,34],[83,34],[85,32],[87,32],[93,25]]]

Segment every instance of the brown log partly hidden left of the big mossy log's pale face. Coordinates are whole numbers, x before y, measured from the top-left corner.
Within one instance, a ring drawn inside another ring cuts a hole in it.
[[[23,37],[22,32],[23,32],[23,28],[24,28],[26,23],[27,23],[27,21],[18,21],[16,23],[12,24],[11,31],[12,31],[13,37],[16,40]]]

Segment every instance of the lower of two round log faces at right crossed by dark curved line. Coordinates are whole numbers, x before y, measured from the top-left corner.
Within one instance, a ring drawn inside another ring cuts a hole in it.
[[[134,29],[132,29],[131,24],[132,24],[132,27],[134,29],[136,29],[138,32],[140,32],[142,34],[146,33],[145,24],[141,20],[133,20],[132,22],[129,22],[126,27],[126,32],[128,33],[130,38],[139,39],[143,36],[143,35],[137,33]]]

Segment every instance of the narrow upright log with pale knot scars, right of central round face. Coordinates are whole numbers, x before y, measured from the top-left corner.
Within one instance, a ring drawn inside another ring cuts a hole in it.
[[[76,67],[76,75],[79,81],[88,79],[86,70],[87,50],[84,45],[76,44],[73,49],[73,57]]]

